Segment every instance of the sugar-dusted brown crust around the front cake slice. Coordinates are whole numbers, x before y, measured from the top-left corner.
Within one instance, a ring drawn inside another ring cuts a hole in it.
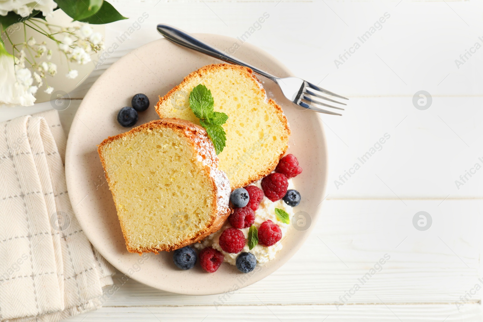
[[[164,118],[161,120],[151,121],[140,126],[134,127],[128,132],[115,135],[113,137],[108,137],[103,140],[98,145],[98,153],[102,168],[104,168],[104,173],[106,180],[109,184],[109,189],[113,195],[114,204],[116,207],[117,214],[119,216],[118,203],[116,202],[116,196],[114,190],[112,190],[111,179],[106,171],[106,162],[103,156],[103,149],[106,148],[111,142],[115,140],[128,137],[136,132],[153,130],[159,127],[166,127],[172,130],[182,133],[191,143],[193,148],[193,153],[197,155],[198,159],[201,160],[204,170],[209,174],[212,182],[212,197],[213,197],[213,210],[211,214],[211,219],[209,224],[202,230],[200,230],[192,238],[185,238],[184,240],[174,244],[174,245],[161,245],[155,248],[133,248],[129,244],[128,232],[123,224],[123,221],[119,217],[119,222],[121,224],[121,230],[123,232],[124,239],[126,241],[126,247],[128,252],[136,252],[140,255],[143,252],[155,252],[156,254],[160,251],[174,251],[179,248],[194,244],[199,242],[206,236],[212,234],[213,232],[219,230],[225,223],[227,217],[230,215],[232,210],[228,207],[229,194],[230,194],[230,184],[225,172],[219,170],[218,167],[218,157],[216,156],[213,143],[208,138],[206,130],[201,126],[198,126],[190,121],[181,120],[177,118]]]

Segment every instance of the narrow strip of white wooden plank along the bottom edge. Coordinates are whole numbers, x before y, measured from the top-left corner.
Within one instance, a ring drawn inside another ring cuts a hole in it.
[[[85,320],[83,320],[85,319]],[[259,302],[256,306],[223,306],[218,310],[214,306],[199,307],[103,307],[90,314],[82,314],[69,321],[104,322],[104,321],[313,321],[313,322],[477,322],[482,321],[479,305],[469,304],[460,311],[443,305],[367,305],[347,306],[339,311],[330,306],[271,306]]]

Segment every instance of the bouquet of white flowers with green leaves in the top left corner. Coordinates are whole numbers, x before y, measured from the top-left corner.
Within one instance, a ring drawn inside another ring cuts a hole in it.
[[[0,2],[2,2],[0,0]],[[72,64],[84,65],[91,61],[90,55],[104,48],[104,39],[94,32],[89,24],[105,24],[127,19],[104,0],[42,0],[7,1],[0,5],[0,104],[30,106],[35,102],[34,94],[41,87],[47,94],[54,88],[48,85],[47,77],[57,74],[57,65],[50,61],[53,50],[58,50],[67,60],[69,72],[64,76],[75,79],[79,72]],[[45,20],[58,7],[79,21],[76,26],[62,27]],[[22,24],[24,41],[13,43],[9,28]],[[8,29],[7,29],[8,28]],[[27,39],[31,29],[54,41],[57,48],[48,48],[46,42],[37,42],[35,37]],[[3,34],[2,34],[3,32]],[[6,35],[6,39],[4,39]],[[4,42],[10,42],[9,53]]]

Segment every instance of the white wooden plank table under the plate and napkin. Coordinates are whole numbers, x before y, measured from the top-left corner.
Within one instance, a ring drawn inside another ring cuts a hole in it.
[[[107,46],[142,13],[149,18],[70,93],[71,106],[60,112],[66,131],[102,71],[157,39],[159,22],[236,38],[266,13],[247,42],[351,100],[343,117],[314,114],[326,125],[328,195],[321,196],[325,208],[311,237],[282,268],[233,294],[212,296],[116,279],[119,290],[101,309],[70,321],[483,320],[483,170],[471,170],[483,166],[483,49],[474,48],[483,45],[481,2],[111,2],[133,19],[106,26]],[[351,56],[343,56],[346,50]],[[463,60],[466,50],[473,53]],[[412,102],[421,90],[432,97],[426,110]],[[46,102],[1,109],[0,119],[49,108]],[[385,134],[390,138],[377,145]],[[358,158],[367,152],[362,164]],[[474,174],[463,182],[467,170]],[[413,226],[418,211],[432,218],[426,231]]]

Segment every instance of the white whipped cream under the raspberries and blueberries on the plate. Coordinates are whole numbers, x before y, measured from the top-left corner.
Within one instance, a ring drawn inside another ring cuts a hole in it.
[[[253,185],[256,185],[258,188],[261,189],[261,180],[254,182]],[[287,189],[294,189],[292,179],[288,179]],[[256,261],[258,262],[257,265],[263,265],[275,258],[276,253],[282,250],[283,248],[282,242],[284,241],[285,235],[287,234],[287,230],[289,230],[290,226],[292,225],[292,224],[284,224],[278,221],[277,216],[275,215],[275,208],[285,210],[288,213],[290,220],[292,220],[292,217],[294,215],[293,208],[287,205],[284,202],[284,200],[280,199],[275,202],[272,202],[266,196],[263,197],[262,201],[260,202],[260,205],[258,206],[258,209],[255,211],[254,224],[256,228],[258,228],[264,221],[271,220],[274,224],[279,225],[280,230],[282,231],[282,239],[280,239],[275,245],[272,245],[269,247],[257,244],[252,250],[249,250],[248,244],[245,244],[245,247],[241,252],[251,252],[252,254],[254,254],[256,257]],[[224,262],[231,265],[236,265],[236,260],[240,253],[233,254],[229,252],[224,252],[221,249],[219,244],[220,235],[227,228],[233,228],[228,221],[223,225],[223,227],[220,230],[207,236],[200,243],[196,243],[193,246],[198,250],[201,250],[206,247],[213,247],[214,249],[222,252],[222,254],[225,256]],[[243,232],[245,239],[247,239],[249,228],[243,228],[240,230]]]

